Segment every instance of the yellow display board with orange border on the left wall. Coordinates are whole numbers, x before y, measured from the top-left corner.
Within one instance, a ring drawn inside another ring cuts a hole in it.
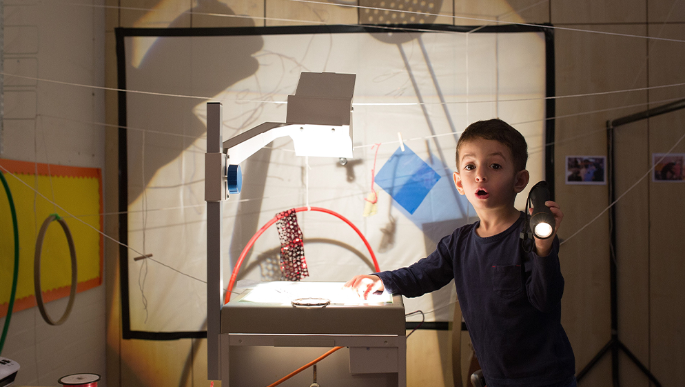
[[[1,171],[12,192],[19,226],[19,281],[14,311],[36,306],[33,280],[36,237],[41,224],[52,213],[63,217],[74,237],[79,281],[77,291],[82,292],[101,285],[104,239],[103,235],[96,231],[103,230],[101,169],[7,159],[0,159],[0,165],[14,175]],[[74,217],[56,208],[50,201],[43,199],[29,187],[59,204]],[[7,315],[10,301],[14,270],[12,233],[12,217],[8,199],[5,192],[2,192],[0,195],[0,317]],[[57,224],[52,224],[45,235],[41,256],[41,285],[43,300],[47,302],[68,297],[70,292],[69,247],[63,230]]]

